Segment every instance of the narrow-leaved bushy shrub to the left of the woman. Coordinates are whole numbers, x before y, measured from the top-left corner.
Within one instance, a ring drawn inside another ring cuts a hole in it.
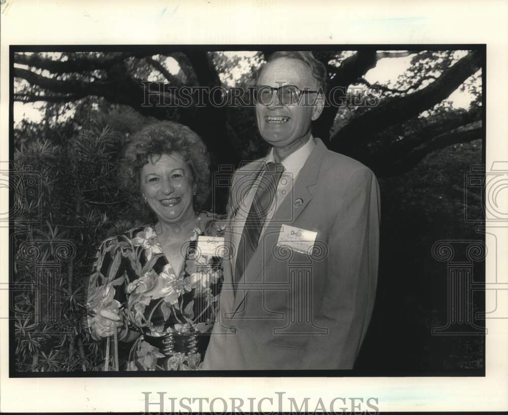
[[[114,221],[132,227],[130,206],[122,202],[129,195],[117,180],[122,141],[111,129],[92,126],[58,139],[35,134],[18,144],[13,183],[16,224],[24,230],[13,244],[33,248],[14,250],[14,281],[27,287],[13,292],[16,370],[96,370],[102,351],[89,337],[85,310],[94,255]],[[118,270],[120,263],[112,267]],[[38,280],[38,275],[52,277]],[[112,283],[121,286],[123,277]],[[47,288],[46,296],[39,286]],[[42,306],[58,311],[55,321],[40,314]]]

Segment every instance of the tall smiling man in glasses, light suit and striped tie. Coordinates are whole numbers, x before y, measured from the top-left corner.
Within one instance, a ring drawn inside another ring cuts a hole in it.
[[[325,79],[310,52],[275,52],[258,74],[272,147],[233,176],[205,370],[353,368],[375,297],[379,191],[367,167],[311,134]]]

